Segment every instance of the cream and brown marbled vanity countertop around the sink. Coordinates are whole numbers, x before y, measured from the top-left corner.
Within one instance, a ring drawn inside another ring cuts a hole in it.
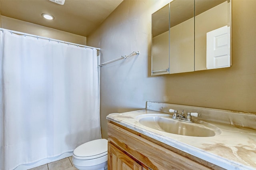
[[[254,128],[206,121],[220,128],[221,134],[211,137],[195,137],[155,130],[140,124],[136,119],[142,114],[158,113],[163,114],[163,112],[144,109],[111,113],[107,119],[222,168],[256,170],[256,130]]]

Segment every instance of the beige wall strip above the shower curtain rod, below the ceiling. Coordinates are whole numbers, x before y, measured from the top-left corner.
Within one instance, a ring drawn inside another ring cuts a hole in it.
[[[16,20],[6,16],[1,16],[0,18],[0,22],[2,24],[1,28],[86,45],[86,37],[84,36],[32,24],[30,22]]]

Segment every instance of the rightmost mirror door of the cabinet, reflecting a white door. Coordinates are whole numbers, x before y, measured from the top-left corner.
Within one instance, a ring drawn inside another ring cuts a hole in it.
[[[195,0],[195,71],[231,65],[230,0]]]

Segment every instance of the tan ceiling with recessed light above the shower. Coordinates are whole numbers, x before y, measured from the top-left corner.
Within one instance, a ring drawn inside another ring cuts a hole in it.
[[[49,0],[0,0],[2,16],[88,36],[123,0],[66,0],[64,5]],[[46,20],[48,13],[54,20]]]

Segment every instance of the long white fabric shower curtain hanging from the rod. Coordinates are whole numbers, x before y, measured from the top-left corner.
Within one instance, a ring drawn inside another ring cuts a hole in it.
[[[0,169],[101,138],[96,49],[0,31]]]

